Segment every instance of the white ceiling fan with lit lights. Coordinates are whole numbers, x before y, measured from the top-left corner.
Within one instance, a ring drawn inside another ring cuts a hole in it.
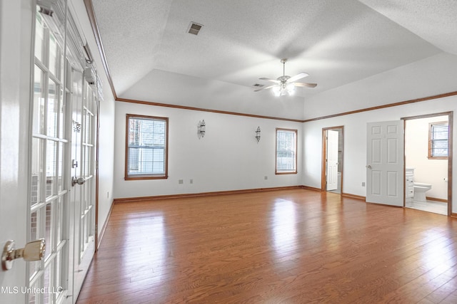
[[[260,90],[270,89],[273,90],[273,94],[275,96],[282,96],[282,95],[293,95],[295,93],[295,87],[306,87],[306,88],[314,88],[316,87],[317,83],[298,83],[296,80],[301,78],[305,78],[308,76],[308,73],[301,72],[295,76],[288,76],[286,75],[286,62],[287,58],[281,59],[281,63],[283,64],[283,75],[279,76],[277,79],[270,79],[270,78],[258,78],[260,80],[270,81],[271,83],[275,83],[274,85],[268,85],[267,87],[258,88],[254,90],[254,92],[258,92]]]

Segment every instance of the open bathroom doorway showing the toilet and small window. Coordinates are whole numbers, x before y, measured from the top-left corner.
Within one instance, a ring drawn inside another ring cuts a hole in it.
[[[453,112],[403,117],[405,206],[450,215]]]

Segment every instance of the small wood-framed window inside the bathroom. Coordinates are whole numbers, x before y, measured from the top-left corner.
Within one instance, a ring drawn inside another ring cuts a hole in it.
[[[448,158],[448,122],[432,122],[428,133],[428,158]]]

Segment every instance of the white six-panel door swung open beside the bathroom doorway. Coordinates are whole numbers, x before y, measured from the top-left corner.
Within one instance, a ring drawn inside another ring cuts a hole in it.
[[[403,206],[403,121],[368,122],[366,201]]]

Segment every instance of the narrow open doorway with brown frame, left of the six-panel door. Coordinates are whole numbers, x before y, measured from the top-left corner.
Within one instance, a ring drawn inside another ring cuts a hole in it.
[[[343,130],[343,126],[322,129],[321,191],[343,192]]]

